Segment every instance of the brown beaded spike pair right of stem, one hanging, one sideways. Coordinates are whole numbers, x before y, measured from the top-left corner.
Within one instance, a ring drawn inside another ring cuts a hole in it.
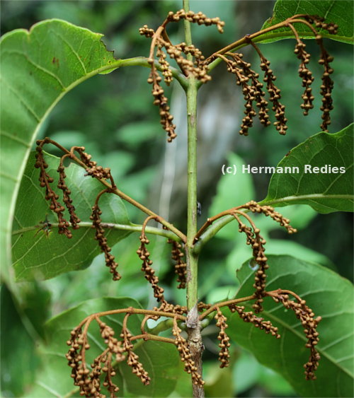
[[[265,216],[273,218],[273,220],[279,223],[280,226],[286,228],[288,233],[296,232],[296,229],[290,226],[290,221],[287,218],[283,217],[280,213],[278,213],[278,211],[275,211],[271,206],[261,206],[256,201],[249,201],[243,206],[239,206],[239,209],[246,209],[251,211],[252,213],[263,213]],[[253,308],[255,312],[261,312],[263,310],[262,303],[263,297],[265,295],[265,271],[269,268],[267,263],[268,258],[265,257],[264,254],[264,245],[266,241],[261,235],[261,230],[259,230],[259,228],[256,228],[251,218],[246,213],[240,210],[231,211],[231,213],[234,218],[236,218],[236,221],[239,223],[239,232],[245,233],[246,244],[252,247],[253,259],[255,260],[256,264],[258,264],[258,269],[256,269],[255,281],[253,283],[253,287],[256,288],[255,295],[257,300],[253,304]],[[251,226],[246,226],[246,224],[241,221],[240,216],[246,218]]]

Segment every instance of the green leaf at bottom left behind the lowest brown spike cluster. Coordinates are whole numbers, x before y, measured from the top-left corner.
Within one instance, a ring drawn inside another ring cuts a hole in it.
[[[47,336],[46,346],[42,349],[43,366],[35,380],[35,387],[26,397],[49,398],[49,397],[80,397],[77,387],[73,385],[70,377],[70,368],[67,365],[65,353],[68,346],[67,339],[70,331],[81,322],[86,316],[94,312],[114,310],[116,308],[141,308],[137,301],[132,298],[98,298],[84,301],[75,308],[63,312],[47,322],[45,333]],[[124,314],[110,315],[102,319],[115,330],[119,339]],[[142,315],[132,315],[128,327],[132,334],[140,334],[140,323]],[[91,348],[87,351],[87,362],[103,351],[104,343],[96,325],[89,329]],[[120,364],[115,376],[115,382],[120,387],[122,394],[123,381],[127,390],[149,397],[167,397],[176,386],[176,381],[181,374],[179,355],[176,347],[172,344],[159,341],[147,341],[141,344],[135,353],[139,356],[144,368],[152,377],[151,385],[140,387],[140,380],[132,375],[131,368]]]

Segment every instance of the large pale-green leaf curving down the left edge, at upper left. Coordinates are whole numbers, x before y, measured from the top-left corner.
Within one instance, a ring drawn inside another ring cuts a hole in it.
[[[8,278],[16,197],[30,148],[58,101],[87,78],[119,66],[98,33],[50,20],[1,39],[1,264]]]

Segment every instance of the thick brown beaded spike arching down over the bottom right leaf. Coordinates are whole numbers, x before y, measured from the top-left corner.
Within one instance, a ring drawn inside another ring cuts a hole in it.
[[[290,293],[295,295],[294,293]],[[316,331],[316,327],[321,321],[321,317],[314,317],[314,312],[311,308],[306,305],[306,301],[295,295],[297,301],[289,300],[289,294],[286,291],[275,291],[270,294],[270,296],[275,300],[276,303],[282,303],[285,308],[290,309],[295,312],[297,319],[304,327],[304,334],[307,337],[306,348],[310,350],[309,361],[304,364],[305,377],[307,380],[316,380],[316,375],[314,372],[319,366],[319,359],[321,358],[318,351],[316,350],[316,345],[319,342],[319,332]]]

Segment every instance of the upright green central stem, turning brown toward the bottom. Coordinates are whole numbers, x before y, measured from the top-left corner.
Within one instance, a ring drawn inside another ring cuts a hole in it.
[[[189,11],[189,0],[183,0],[183,8]],[[184,33],[186,45],[192,45],[190,22],[184,21]],[[193,57],[188,54],[187,59]],[[200,333],[200,320],[198,318],[198,254],[193,252],[193,240],[197,233],[197,93],[198,81],[190,74],[188,87],[185,90],[187,96],[187,122],[188,122],[188,221],[187,243],[185,255],[187,259],[187,332],[190,354],[198,373],[202,375],[202,335]],[[193,397],[204,397],[204,388],[193,383]]]

